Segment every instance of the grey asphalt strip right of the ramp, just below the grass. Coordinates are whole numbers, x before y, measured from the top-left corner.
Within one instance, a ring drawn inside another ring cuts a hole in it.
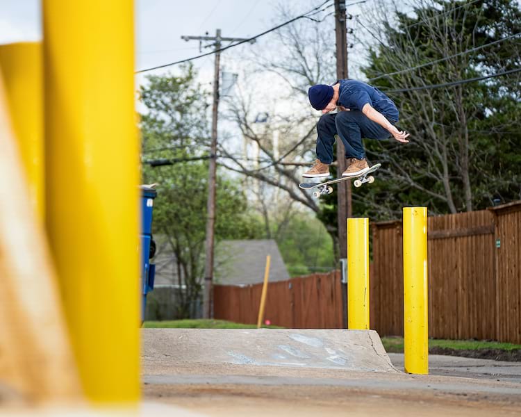
[[[404,354],[389,353],[392,365],[404,370]],[[429,375],[494,379],[499,382],[521,383],[521,362],[493,361],[429,354]]]

